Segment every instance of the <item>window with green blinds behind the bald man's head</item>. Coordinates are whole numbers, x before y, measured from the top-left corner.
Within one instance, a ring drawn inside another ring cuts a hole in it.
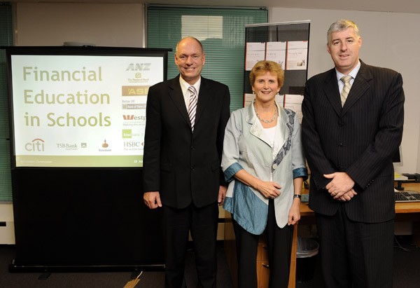
[[[176,43],[185,36],[199,39],[206,52],[202,76],[229,86],[230,110],[243,107],[245,25],[266,23],[267,8],[187,8],[153,6],[147,8],[147,46],[172,48],[168,78],[178,68],[174,63]]]

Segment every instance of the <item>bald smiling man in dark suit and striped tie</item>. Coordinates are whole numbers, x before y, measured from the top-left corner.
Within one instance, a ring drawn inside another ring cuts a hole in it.
[[[230,92],[228,86],[200,76],[204,62],[202,43],[193,37],[182,39],[175,52],[180,75],[148,91],[144,203],[163,210],[165,287],[185,285],[189,231],[197,287],[216,287],[218,205],[226,194],[221,156]]]

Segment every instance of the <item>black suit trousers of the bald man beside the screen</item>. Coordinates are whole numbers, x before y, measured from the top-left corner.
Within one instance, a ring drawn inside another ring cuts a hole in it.
[[[188,232],[195,248],[197,287],[216,287],[217,203],[197,208],[193,204],[183,209],[163,206],[165,227],[165,287],[185,286],[184,268]]]

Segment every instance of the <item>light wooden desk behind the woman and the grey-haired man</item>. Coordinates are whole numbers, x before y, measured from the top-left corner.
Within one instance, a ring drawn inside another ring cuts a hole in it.
[[[402,185],[405,190],[420,191],[420,183],[404,183]],[[308,191],[304,191],[308,193]],[[226,213],[225,219],[225,252],[228,265],[232,275],[234,287],[237,287],[237,261],[235,249],[235,233],[233,233],[232,219],[229,212]],[[420,202],[412,203],[395,203],[395,221],[412,221],[413,222],[413,243],[420,247]],[[299,225],[315,224],[314,211],[310,210],[308,203],[300,204],[300,221]],[[293,246],[290,262],[290,275],[288,288],[296,287],[296,251],[297,251],[297,224],[293,233]],[[259,285],[264,288],[267,286]]]

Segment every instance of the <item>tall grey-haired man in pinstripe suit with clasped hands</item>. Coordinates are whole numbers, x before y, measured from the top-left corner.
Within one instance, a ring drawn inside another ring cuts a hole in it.
[[[307,81],[302,103],[309,207],[331,288],[392,287],[392,156],[402,139],[404,92],[398,72],[359,60],[361,45],[354,22],[333,23],[327,50],[335,69]]]

